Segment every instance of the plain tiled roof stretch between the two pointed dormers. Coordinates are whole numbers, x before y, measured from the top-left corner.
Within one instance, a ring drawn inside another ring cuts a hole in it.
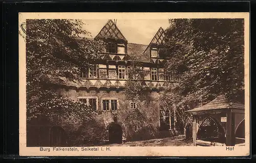
[[[147,45],[136,44],[136,43],[127,43],[127,55],[135,57],[137,60],[142,62],[149,62],[150,55],[143,54]]]

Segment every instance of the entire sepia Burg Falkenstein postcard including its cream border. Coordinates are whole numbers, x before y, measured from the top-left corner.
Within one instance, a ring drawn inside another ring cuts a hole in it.
[[[248,155],[248,13],[161,14],[19,13],[20,154]]]

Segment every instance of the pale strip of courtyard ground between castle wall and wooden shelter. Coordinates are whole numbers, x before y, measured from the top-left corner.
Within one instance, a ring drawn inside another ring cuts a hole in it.
[[[185,135],[150,139],[146,141],[125,142],[123,144],[109,144],[104,146],[193,146],[192,140],[186,140]]]

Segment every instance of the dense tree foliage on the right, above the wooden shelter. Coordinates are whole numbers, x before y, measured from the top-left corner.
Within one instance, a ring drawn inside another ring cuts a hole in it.
[[[244,100],[244,20],[169,19],[166,64],[180,81],[168,87],[162,100],[180,114],[218,95]],[[181,115],[182,116],[182,115]]]

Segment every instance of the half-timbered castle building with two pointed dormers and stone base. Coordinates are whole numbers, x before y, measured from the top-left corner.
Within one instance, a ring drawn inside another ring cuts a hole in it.
[[[148,45],[130,43],[116,24],[108,20],[94,38],[106,43],[105,50],[99,54],[101,59],[81,73],[79,82],[58,83],[63,85],[58,88],[61,95],[102,111],[97,121],[105,127],[102,131],[105,142],[122,143],[177,134],[175,114],[166,111],[159,102],[159,91],[176,81],[163,68],[168,59],[159,51],[164,38],[164,30],[160,27]],[[138,104],[125,97],[132,58],[137,59],[143,71],[149,72],[143,81],[152,87],[150,102]]]

